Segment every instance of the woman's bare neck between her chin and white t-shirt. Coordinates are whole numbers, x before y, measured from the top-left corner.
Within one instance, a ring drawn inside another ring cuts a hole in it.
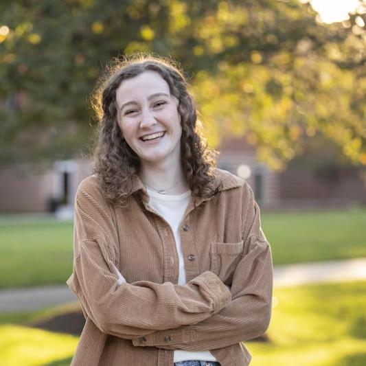
[[[156,190],[168,190],[167,194],[182,194],[190,189],[181,164],[143,164],[139,176],[141,181]]]

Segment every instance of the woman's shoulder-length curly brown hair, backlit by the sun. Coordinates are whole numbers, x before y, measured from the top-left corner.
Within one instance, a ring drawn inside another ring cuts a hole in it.
[[[179,100],[181,164],[192,196],[214,196],[222,188],[214,179],[217,152],[208,148],[203,138],[196,104],[187,91],[183,71],[172,59],[153,54],[133,54],[106,67],[91,100],[99,122],[93,147],[93,173],[100,179],[106,200],[112,205],[124,206],[130,195],[133,176],[139,174],[139,157],[122,138],[117,124],[116,90],[123,80],[144,71],[159,73],[168,83],[170,94]]]

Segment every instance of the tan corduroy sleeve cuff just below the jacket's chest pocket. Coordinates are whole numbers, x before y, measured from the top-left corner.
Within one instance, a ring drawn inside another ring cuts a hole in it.
[[[211,271],[206,271],[192,279],[189,283],[198,284],[213,300],[214,314],[231,301],[231,292],[221,279]]]

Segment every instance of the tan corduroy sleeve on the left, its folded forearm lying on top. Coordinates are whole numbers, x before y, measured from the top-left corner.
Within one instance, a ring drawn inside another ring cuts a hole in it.
[[[80,185],[76,194],[73,274],[67,285],[102,332],[132,339],[199,323],[229,304],[230,291],[209,271],[184,286],[124,282],[115,271],[118,236],[111,209],[89,185]]]

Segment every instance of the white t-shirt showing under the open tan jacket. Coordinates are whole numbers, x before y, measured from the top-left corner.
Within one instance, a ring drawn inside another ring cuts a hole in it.
[[[181,236],[179,235],[179,227],[183,220],[185,209],[190,201],[191,191],[187,191],[179,195],[159,194],[147,188],[150,196],[149,205],[155,209],[168,222],[172,228],[174,239],[176,242],[176,251],[179,257],[179,277],[178,284],[184,285],[187,283],[185,279],[185,268],[183,260],[183,251],[181,246]],[[174,351],[174,362],[187,360],[201,361],[217,361],[216,358],[208,351],[189,352],[183,350]]]

